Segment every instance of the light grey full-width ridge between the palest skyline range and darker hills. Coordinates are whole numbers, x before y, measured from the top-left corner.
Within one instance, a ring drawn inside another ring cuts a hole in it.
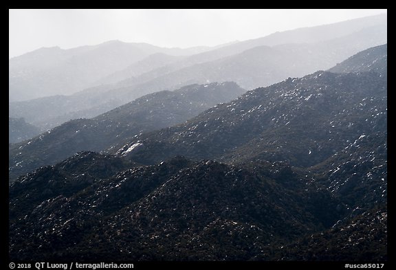
[[[68,97],[47,98],[54,104],[46,100],[13,102],[10,103],[9,113],[13,117],[25,117],[28,122],[37,126],[44,123],[45,128],[51,128],[73,117],[94,117],[124,104],[126,100],[134,100],[147,93],[178,89],[192,83],[234,81],[244,89],[265,87],[288,77],[305,76],[320,69],[329,69],[362,49],[380,45],[382,41],[386,43],[386,27],[366,28],[351,36],[315,45],[255,47],[228,58],[181,69],[168,69],[169,65],[160,67],[131,80],[119,82],[117,86],[113,86],[115,89],[103,85]],[[63,109],[66,102],[72,102],[74,106]],[[27,113],[24,107],[29,107],[29,112],[36,113]],[[43,112],[44,108],[48,108],[48,111],[52,107],[55,109],[48,113]],[[68,114],[73,111],[72,115]]]

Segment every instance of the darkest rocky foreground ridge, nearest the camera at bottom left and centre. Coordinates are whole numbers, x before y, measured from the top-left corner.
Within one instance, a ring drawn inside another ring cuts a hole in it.
[[[92,175],[81,161],[118,166]],[[119,168],[117,158],[80,153],[12,183],[10,258],[249,260],[267,245],[331,227],[346,211],[283,163],[179,157],[115,174]]]

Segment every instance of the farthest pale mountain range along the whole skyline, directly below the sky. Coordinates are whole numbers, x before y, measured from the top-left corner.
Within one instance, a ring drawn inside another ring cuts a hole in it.
[[[239,54],[261,45],[316,43],[347,36],[366,27],[386,25],[386,14],[298,30],[277,32],[263,38],[217,47],[162,48],[146,43],[109,41],[100,45],[61,49],[41,48],[9,60],[9,100],[21,101],[47,95],[71,94],[94,86],[102,78],[129,69],[151,54],[190,56],[173,70]],[[372,46],[371,46],[372,47]],[[208,51],[208,52],[206,52]],[[168,63],[164,62],[165,65]],[[152,63],[155,69],[157,63]],[[126,78],[130,74],[126,73]],[[133,75],[132,73],[132,76]],[[106,80],[103,80],[106,82]],[[108,81],[109,82],[109,81]]]

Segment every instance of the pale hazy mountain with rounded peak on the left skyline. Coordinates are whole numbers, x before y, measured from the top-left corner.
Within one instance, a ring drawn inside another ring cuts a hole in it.
[[[108,41],[74,49],[37,49],[9,60],[9,100],[75,93],[151,54],[182,56],[206,49],[208,48],[168,49],[122,41]]]

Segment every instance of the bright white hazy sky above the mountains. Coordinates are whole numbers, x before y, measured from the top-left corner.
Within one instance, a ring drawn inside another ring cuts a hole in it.
[[[214,46],[386,10],[9,10],[9,56],[104,41]]]

